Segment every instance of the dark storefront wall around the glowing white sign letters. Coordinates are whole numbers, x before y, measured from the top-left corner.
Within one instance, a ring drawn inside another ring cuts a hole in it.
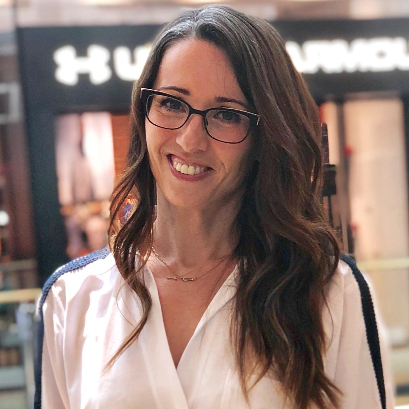
[[[372,91],[398,92],[408,100],[408,19],[277,21],[273,25],[286,42],[292,42],[293,49],[301,51],[306,70],[314,72],[304,73],[304,78],[317,102],[328,95],[342,101],[346,93]],[[115,66],[119,47],[132,53],[129,63],[137,63],[133,50],[139,47],[138,55],[144,56],[142,46],[159,30],[157,25],[18,29],[40,284],[67,261],[58,204],[55,117],[67,112],[127,112],[132,81],[124,79],[126,74]],[[91,45],[97,47],[91,51]],[[54,53],[61,49],[64,52],[57,63]],[[339,57],[339,49],[349,62]],[[327,54],[337,63],[331,65]],[[323,71],[328,71],[328,64],[331,73]],[[348,69],[352,72],[346,72]],[[56,79],[57,70],[65,83]],[[84,73],[76,75],[80,70]],[[405,107],[408,109],[407,103]]]

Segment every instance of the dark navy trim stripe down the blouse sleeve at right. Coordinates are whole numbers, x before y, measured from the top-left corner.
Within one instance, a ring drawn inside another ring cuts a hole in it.
[[[378,328],[376,326],[375,310],[371,292],[369,291],[368,283],[358,269],[355,260],[346,254],[341,254],[341,260],[351,267],[355,280],[358,283],[361,292],[362,312],[364,313],[364,322],[366,329],[366,339],[371,353],[372,365],[375,371],[376,383],[378,384],[379,396],[381,399],[382,409],[386,409],[386,393],[385,382],[382,369],[381,350],[379,345]]]

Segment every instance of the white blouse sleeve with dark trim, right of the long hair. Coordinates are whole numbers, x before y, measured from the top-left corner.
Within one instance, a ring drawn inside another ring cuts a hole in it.
[[[348,269],[350,272],[344,277],[343,297],[338,299],[339,311],[334,314],[337,321],[334,325],[340,328],[334,354],[334,382],[343,394],[342,408],[393,409],[384,327],[371,285],[356,266],[355,269],[353,274]]]

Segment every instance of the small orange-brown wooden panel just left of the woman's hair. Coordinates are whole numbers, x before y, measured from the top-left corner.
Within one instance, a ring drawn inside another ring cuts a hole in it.
[[[124,171],[130,139],[129,115],[112,115],[112,140],[114,143],[115,178]]]

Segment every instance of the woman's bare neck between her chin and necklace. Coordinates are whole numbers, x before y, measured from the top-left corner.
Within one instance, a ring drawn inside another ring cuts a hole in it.
[[[238,200],[206,209],[175,207],[157,190],[154,247],[178,268],[192,269],[231,254],[238,234]]]

